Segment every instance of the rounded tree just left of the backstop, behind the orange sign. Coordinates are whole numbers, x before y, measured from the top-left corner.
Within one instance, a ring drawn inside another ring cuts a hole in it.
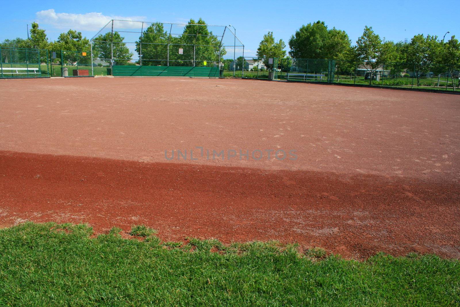
[[[57,41],[52,44],[53,50],[62,50],[63,61],[68,64],[90,64],[91,55],[83,56],[81,52],[90,52],[90,41],[81,35],[81,32],[69,29],[67,33],[61,33]]]

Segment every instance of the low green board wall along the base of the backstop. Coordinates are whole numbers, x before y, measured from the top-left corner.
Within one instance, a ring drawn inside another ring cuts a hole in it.
[[[218,67],[114,65],[114,76],[218,78]]]

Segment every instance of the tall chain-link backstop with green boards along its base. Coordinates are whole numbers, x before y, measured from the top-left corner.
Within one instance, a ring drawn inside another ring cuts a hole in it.
[[[244,57],[244,44],[235,32],[229,26],[201,20],[161,23],[112,19],[91,39],[92,67],[111,67],[113,75],[186,75],[211,69],[220,75],[227,52],[233,53],[234,61],[236,54]]]

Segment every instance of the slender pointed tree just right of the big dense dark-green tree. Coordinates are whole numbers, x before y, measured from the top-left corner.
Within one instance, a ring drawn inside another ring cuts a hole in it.
[[[356,55],[359,61],[369,71],[369,84],[376,71],[388,60],[390,45],[384,44],[378,34],[374,33],[372,27],[365,26],[361,37],[356,41]]]

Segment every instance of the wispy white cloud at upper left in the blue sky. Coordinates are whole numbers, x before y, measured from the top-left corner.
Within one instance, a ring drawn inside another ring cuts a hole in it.
[[[128,21],[145,20],[145,16],[105,16],[102,13],[91,12],[86,14],[57,13],[54,9],[36,12],[39,23],[50,24],[57,29],[74,29],[81,31],[98,31],[112,19]],[[118,22],[117,29],[140,28],[141,23]]]

